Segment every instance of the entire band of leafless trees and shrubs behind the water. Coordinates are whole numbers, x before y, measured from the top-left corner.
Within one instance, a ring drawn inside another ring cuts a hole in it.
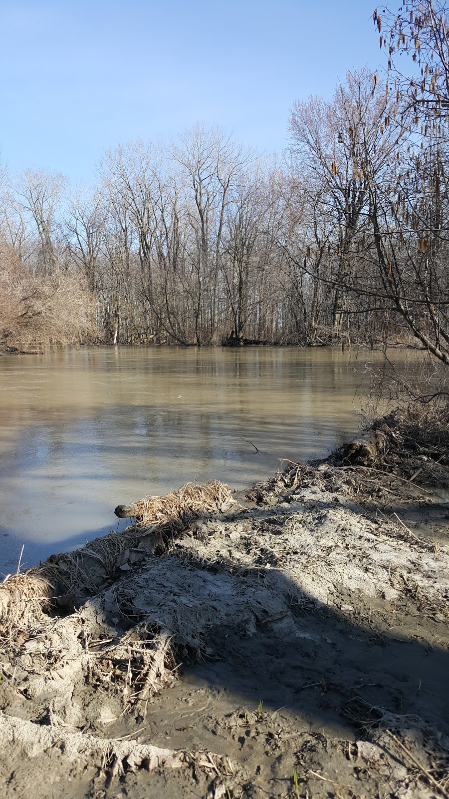
[[[2,348],[387,341],[447,364],[446,3],[373,19],[384,69],[296,102],[282,157],[197,125],[117,145],[91,187],[5,167]]]

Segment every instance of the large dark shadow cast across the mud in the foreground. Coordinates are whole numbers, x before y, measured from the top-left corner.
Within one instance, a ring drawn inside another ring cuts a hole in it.
[[[300,574],[236,569],[221,555],[193,562],[182,539],[176,556],[151,559],[105,597],[109,623],[120,614],[125,627],[168,629],[181,682],[226,694],[228,705],[253,710],[262,702],[345,735],[379,707],[449,732],[448,652],[428,634],[430,624],[434,639],[447,638],[447,626],[421,617],[419,604],[411,617],[410,604],[391,606],[346,586],[340,608],[329,607],[301,590]]]

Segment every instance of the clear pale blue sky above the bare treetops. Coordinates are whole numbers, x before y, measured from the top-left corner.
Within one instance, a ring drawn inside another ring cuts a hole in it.
[[[392,2],[391,7],[399,5]],[[258,151],[293,101],[383,61],[375,0],[0,0],[0,145],[89,181],[109,146],[197,121]]]

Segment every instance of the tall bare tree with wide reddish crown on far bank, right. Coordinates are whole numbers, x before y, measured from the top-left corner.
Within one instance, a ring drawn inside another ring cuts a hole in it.
[[[369,268],[370,181],[383,180],[402,146],[401,130],[388,127],[395,113],[394,98],[364,70],[348,73],[332,103],[296,104],[290,119],[296,180],[305,185],[310,210],[302,248],[287,248],[286,257],[298,269],[304,257],[304,272],[316,280],[320,270],[320,281],[332,288],[333,335],[342,334],[344,319],[349,326],[355,314],[366,318],[379,297]],[[314,296],[316,304],[316,288]]]

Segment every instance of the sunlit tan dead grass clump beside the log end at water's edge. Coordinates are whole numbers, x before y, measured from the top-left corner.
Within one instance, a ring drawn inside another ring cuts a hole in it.
[[[141,501],[137,527],[161,528],[173,535],[197,519],[225,511],[232,505],[237,506],[237,503],[230,489],[218,480],[204,486],[185,483],[165,497],[145,497]]]

